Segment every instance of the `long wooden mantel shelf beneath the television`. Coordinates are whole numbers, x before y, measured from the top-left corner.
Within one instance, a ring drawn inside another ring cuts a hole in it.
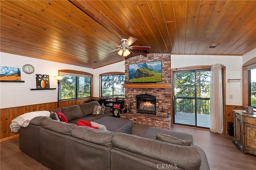
[[[124,88],[171,88],[170,83],[127,83]]]

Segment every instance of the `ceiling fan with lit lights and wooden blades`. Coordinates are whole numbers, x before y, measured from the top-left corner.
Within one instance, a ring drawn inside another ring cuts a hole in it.
[[[133,38],[133,37],[129,37],[128,39],[121,39],[122,44],[115,45],[115,47],[118,47],[118,49],[108,51],[108,53],[119,50],[118,55],[122,55],[122,56],[126,57],[132,52],[131,50],[143,50],[143,51],[149,51],[150,50],[150,47],[146,47],[146,46],[130,46],[136,40],[137,39]]]

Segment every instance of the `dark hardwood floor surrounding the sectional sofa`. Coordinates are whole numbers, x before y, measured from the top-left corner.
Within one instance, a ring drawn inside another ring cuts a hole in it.
[[[146,129],[146,126],[135,124],[132,133],[140,136]],[[172,126],[171,130],[192,134],[194,145],[198,145],[206,153],[211,170],[256,170],[256,156],[242,154],[228,134],[181,126]],[[2,141],[0,149],[1,170],[49,170],[19,150],[18,137]]]

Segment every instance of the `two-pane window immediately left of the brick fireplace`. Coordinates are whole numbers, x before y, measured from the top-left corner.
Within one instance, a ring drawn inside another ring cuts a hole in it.
[[[124,74],[101,75],[101,96],[124,98]]]

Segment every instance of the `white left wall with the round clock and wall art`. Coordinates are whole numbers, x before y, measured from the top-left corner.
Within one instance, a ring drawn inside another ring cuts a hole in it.
[[[21,79],[25,81],[24,83],[0,82],[0,108],[57,102],[58,84],[53,76],[58,75],[58,70],[78,70],[93,74],[92,68],[0,53],[1,66],[18,67],[22,70],[24,64],[32,64],[35,68],[34,73],[25,74],[21,71]],[[36,88],[36,74],[49,75],[50,88],[56,88],[56,90],[30,90],[30,88]]]

